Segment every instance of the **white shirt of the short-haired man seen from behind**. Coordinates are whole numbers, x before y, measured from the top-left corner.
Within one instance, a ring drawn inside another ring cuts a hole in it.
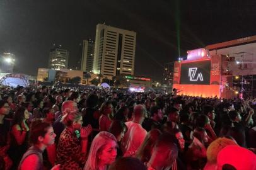
[[[125,122],[128,130],[122,139],[124,156],[134,156],[143,143],[147,131],[139,123]]]

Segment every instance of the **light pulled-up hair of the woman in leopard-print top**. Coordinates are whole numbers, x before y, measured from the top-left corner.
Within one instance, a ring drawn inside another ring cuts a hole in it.
[[[71,111],[70,108],[66,108],[66,110],[64,110],[62,113],[61,122],[69,127],[73,124],[73,122],[78,121],[81,116],[82,115],[77,110]]]

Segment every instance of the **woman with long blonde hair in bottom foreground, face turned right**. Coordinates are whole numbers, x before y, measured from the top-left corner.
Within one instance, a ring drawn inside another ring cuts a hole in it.
[[[91,143],[84,170],[107,170],[117,156],[117,139],[112,133],[100,132]]]

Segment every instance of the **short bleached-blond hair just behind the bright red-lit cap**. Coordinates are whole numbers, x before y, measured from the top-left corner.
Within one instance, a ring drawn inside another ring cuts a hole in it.
[[[218,139],[211,142],[206,151],[207,161],[212,164],[216,164],[219,151],[221,151],[224,147],[228,145],[237,144],[233,140],[227,139],[226,137],[219,137]]]

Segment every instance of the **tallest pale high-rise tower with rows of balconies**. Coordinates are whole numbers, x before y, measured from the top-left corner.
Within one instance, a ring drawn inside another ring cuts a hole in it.
[[[112,77],[134,74],[136,32],[98,24],[93,72]]]

